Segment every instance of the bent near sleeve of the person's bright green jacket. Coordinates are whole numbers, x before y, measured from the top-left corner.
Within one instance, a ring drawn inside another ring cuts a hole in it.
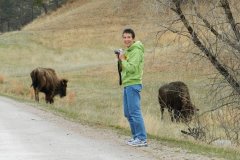
[[[127,60],[122,61],[122,68],[126,72],[134,73],[143,59],[143,53],[140,49],[132,51],[131,56]]]

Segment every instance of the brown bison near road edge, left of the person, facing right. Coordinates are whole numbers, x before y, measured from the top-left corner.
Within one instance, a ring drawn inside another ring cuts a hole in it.
[[[53,97],[60,95],[66,96],[66,79],[58,79],[55,71],[51,68],[36,68],[31,73],[32,86],[34,89],[35,100],[39,102],[39,92],[45,93],[46,103],[54,103]]]

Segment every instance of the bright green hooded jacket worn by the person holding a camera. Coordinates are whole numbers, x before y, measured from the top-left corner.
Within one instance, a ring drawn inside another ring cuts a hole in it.
[[[122,63],[122,84],[124,87],[142,84],[144,65],[144,46],[140,41],[133,43],[124,53]]]

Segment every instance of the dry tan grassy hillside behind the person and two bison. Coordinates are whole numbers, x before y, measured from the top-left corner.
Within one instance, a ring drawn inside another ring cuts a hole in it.
[[[54,105],[45,105],[42,94],[40,106],[81,122],[128,129],[113,49],[123,47],[121,32],[132,27],[146,49],[142,109],[148,133],[192,140],[180,132],[187,126],[171,123],[167,112],[164,121],[160,120],[158,88],[170,81],[184,81],[193,103],[203,112],[213,107],[206,98],[205,76],[212,69],[208,62],[181,52],[188,42],[171,43],[175,37],[170,33],[156,45],[159,24],[167,17],[149,2],[75,0],[22,31],[1,35],[0,92],[34,103],[29,73],[38,66],[51,67],[69,80],[68,94],[63,99],[56,97]]]

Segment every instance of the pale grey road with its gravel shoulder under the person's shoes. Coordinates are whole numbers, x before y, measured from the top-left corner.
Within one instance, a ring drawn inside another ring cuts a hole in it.
[[[128,137],[67,121],[0,97],[0,160],[213,160],[154,141],[126,145]]]

